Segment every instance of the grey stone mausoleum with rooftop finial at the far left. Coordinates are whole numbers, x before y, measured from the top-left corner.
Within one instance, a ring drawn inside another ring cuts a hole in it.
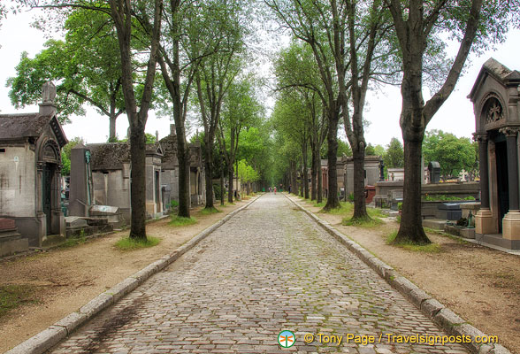
[[[67,139],[55,96],[56,87],[47,82],[39,112],[0,115],[0,218],[13,219],[34,247],[48,235],[65,235],[61,148]]]

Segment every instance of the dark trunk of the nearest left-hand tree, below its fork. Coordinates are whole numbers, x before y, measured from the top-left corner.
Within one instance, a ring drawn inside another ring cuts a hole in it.
[[[134,113],[136,114],[136,113]],[[138,120],[138,126],[130,135],[130,158],[132,170],[130,177],[130,197],[132,201],[132,220],[130,238],[146,240],[146,138],[144,125]]]

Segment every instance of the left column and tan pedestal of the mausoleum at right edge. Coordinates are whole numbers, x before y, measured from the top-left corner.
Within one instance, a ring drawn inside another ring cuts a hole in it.
[[[487,160],[487,134],[475,134],[478,142],[478,158],[480,172],[480,210],[475,215],[475,233],[480,235],[494,234],[497,227],[493,223],[493,214],[489,207],[489,165]]]

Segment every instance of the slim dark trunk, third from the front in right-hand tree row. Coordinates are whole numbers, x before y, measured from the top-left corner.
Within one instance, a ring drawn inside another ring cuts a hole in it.
[[[338,113],[331,113],[335,117],[329,118],[329,131],[327,134],[328,146],[328,173],[329,173],[329,190],[327,193],[327,204],[324,210],[330,211],[332,209],[340,208],[340,199],[338,198],[338,171],[336,169],[336,160],[338,153]]]

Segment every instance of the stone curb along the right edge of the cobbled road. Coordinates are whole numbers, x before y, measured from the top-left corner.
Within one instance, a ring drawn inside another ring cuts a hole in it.
[[[423,314],[432,319],[437,325],[444,329],[448,335],[468,336],[471,338],[470,343],[463,343],[463,345],[475,354],[511,354],[509,350],[497,343],[477,343],[476,336],[487,336],[478,328],[471,326],[464,319],[459,317],[455,312],[452,312],[444,304],[440,304],[432,296],[428,295],[424,290],[419,289],[417,285],[401,276],[391,266],[386,265],[385,262],[375,257],[368,250],[363,249],[358,243],[348,239],[347,236],[341,234],[328,221],[320,219],[315,213],[305,209],[302,205],[296,203],[289,196],[284,194],[294,205],[300,208],[303,212],[314,219],[317,224],[324,228],[326,232],[333,235],[335,239],[347,246],[348,250],[352,251],[358,258],[360,258],[367,266],[370,266],[376,273],[386,280],[394,289],[399,291],[402,296],[409,299],[409,302],[416,305],[416,307],[423,312]]]

